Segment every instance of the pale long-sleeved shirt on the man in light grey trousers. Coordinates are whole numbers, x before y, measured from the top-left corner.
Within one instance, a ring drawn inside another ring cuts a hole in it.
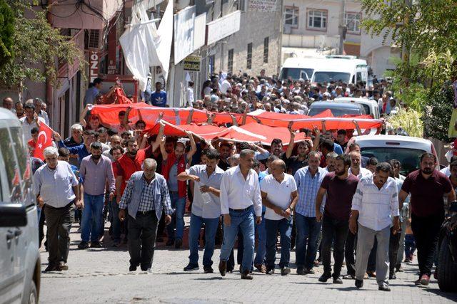
[[[352,210],[358,210],[358,224],[381,231],[399,216],[398,189],[395,179],[388,177],[381,189],[373,182],[373,175],[362,177],[352,198]]]

